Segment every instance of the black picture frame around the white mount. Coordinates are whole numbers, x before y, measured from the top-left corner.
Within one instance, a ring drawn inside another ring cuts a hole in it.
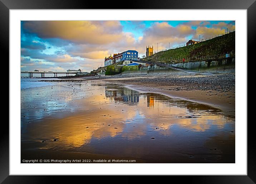
[[[10,9],[246,9],[247,10],[247,60],[253,60],[253,45],[256,32],[255,0],[143,0],[129,1],[125,6],[120,1],[86,1],[86,0],[0,0],[0,48],[9,61],[9,10]],[[244,61],[246,62],[246,61]],[[8,67],[8,66],[7,66]],[[8,67],[9,68],[9,67]],[[10,68],[9,68],[10,70]],[[247,77],[248,78],[248,77]],[[249,78],[248,78],[249,79]],[[9,96],[10,98],[10,96]],[[250,109],[248,109],[250,112]],[[250,114],[250,113],[247,113]],[[245,124],[247,122],[244,122]],[[14,176],[9,175],[9,124],[2,123],[0,134],[0,182],[3,183],[51,183],[56,179],[74,183],[66,176]],[[253,121],[247,123],[247,175],[229,176],[171,176],[179,182],[189,183],[255,183],[255,143],[253,138]],[[79,176],[80,177],[80,176]],[[81,176],[82,177],[82,176]],[[88,177],[88,176],[86,176]],[[95,177],[94,177],[95,178]],[[101,178],[101,177],[100,177]],[[96,178],[95,178],[96,179]],[[97,177],[99,179],[99,177]],[[151,181],[152,178],[149,176]],[[122,183],[133,182],[134,177],[125,176]],[[106,182],[107,180],[104,179]],[[159,180],[158,180],[159,182]],[[98,183],[98,182],[96,182]]]

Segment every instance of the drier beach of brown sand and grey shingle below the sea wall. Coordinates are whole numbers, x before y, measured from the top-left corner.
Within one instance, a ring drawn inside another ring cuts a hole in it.
[[[230,79],[231,78],[231,79]],[[217,81],[216,81],[217,79]],[[81,77],[77,80],[44,80],[44,82],[84,82],[102,80],[122,84],[141,92],[164,94],[221,109],[235,116],[235,73],[206,75],[168,76],[109,76]]]

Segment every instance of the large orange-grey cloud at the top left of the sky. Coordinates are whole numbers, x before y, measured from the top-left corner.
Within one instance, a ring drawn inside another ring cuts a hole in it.
[[[119,21],[24,21],[23,28],[40,38],[76,43],[108,44],[123,39]]]

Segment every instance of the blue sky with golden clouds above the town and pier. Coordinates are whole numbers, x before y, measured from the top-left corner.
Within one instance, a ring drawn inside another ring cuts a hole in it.
[[[90,72],[127,50],[146,55],[235,30],[235,21],[21,21],[21,71]]]

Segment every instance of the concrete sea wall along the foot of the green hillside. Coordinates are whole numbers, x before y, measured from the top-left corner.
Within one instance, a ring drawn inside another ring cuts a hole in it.
[[[232,73],[235,72],[235,58],[223,58],[216,61],[175,63],[171,64],[171,66],[200,72]]]

